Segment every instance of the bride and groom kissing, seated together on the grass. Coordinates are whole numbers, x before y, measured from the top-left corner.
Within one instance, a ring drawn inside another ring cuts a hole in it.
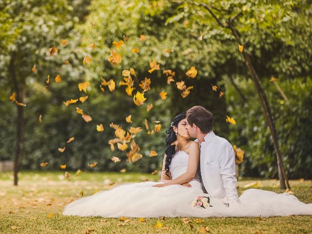
[[[102,217],[253,217],[312,215],[294,195],[236,190],[232,145],[215,135],[213,114],[194,106],[166,131],[160,182],[116,186],[65,206],[63,215]],[[192,141],[191,138],[196,138]]]

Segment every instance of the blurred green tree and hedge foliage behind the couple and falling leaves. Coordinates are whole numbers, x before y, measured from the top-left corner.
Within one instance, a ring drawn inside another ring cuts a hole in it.
[[[223,2],[226,9],[242,10],[238,30],[268,96],[288,176],[311,179],[311,4]],[[215,133],[245,151],[241,176],[276,178],[272,137],[237,44],[230,34],[207,26],[214,19],[198,20],[202,13],[187,1],[18,0],[1,1],[0,9],[0,160],[13,160],[16,146],[20,146],[20,156],[24,152],[22,169],[39,169],[39,164],[47,161],[42,170],[56,170],[60,164],[66,164],[69,170],[125,168],[153,172],[161,166],[165,130],[173,117],[194,105],[202,105],[215,115]],[[140,40],[140,35],[145,39]],[[61,39],[67,39],[67,44],[63,46]],[[124,45],[117,50],[112,43],[119,40]],[[93,42],[95,47],[91,49]],[[59,52],[51,57],[48,49],[53,45]],[[133,48],[139,53],[132,53]],[[108,61],[110,49],[121,54],[119,64]],[[84,66],[86,55],[91,62]],[[23,90],[17,100],[25,107],[9,100],[13,92],[18,93],[10,71],[13,57],[19,90]],[[150,74],[149,61],[153,59],[160,64],[160,70]],[[192,66],[198,74],[188,78],[185,73]],[[122,71],[130,68],[135,69],[137,76],[132,94],[142,91],[138,87],[141,80],[151,79],[151,90],[146,92],[147,100],[142,106],[136,106],[133,97],[125,93],[125,86],[118,85],[123,80]],[[194,86],[188,97],[181,97],[175,82],[167,84],[163,74],[167,69],[176,73],[175,81]],[[58,74],[60,83],[54,81]],[[116,90],[110,92],[105,87],[102,92],[101,78],[114,79]],[[270,81],[271,78],[277,80]],[[90,82],[87,94],[78,90],[78,83],[84,81]],[[213,85],[217,85],[217,92]],[[159,97],[161,91],[168,92],[165,100]],[[220,91],[224,92],[221,98]],[[84,103],[63,104],[84,95],[88,95]],[[149,103],[154,107],[147,112]],[[76,113],[76,107],[92,116],[92,121],[85,122]],[[23,140],[16,137],[18,109],[23,110]],[[125,121],[130,114],[132,124]],[[235,125],[225,121],[227,115],[234,117]],[[155,125],[152,121],[161,121],[160,133],[148,135],[145,118],[151,128]],[[109,127],[111,122],[125,130],[130,126],[142,127],[135,138],[142,159],[130,164],[125,152],[117,147],[111,151],[108,141],[114,138],[115,131]],[[96,129],[99,123],[104,125],[102,133]],[[75,140],[60,153],[58,148],[70,137]],[[149,157],[151,150],[158,156]],[[114,163],[112,156],[121,158],[121,162]],[[94,161],[98,165],[90,169],[87,164]]]

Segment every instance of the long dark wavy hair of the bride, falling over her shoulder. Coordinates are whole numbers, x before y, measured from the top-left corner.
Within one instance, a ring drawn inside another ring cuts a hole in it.
[[[166,161],[165,161],[165,174],[166,176],[169,176],[169,165],[171,163],[172,156],[176,153],[176,145],[172,144],[176,141],[176,133],[174,131],[174,126],[177,127],[179,122],[186,117],[185,113],[179,114],[174,118],[174,121],[172,121],[170,128],[166,131],[167,137],[166,137]]]

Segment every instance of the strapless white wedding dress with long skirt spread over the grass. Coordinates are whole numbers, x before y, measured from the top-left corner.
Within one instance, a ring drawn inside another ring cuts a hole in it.
[[[178,151],[173,156],[170,172],[176,178],[187,171],[189,156]],[[213,178],[212,178],[213,179]],[[240,196],[241,204],[227,207],[220,199],[210,198],[212,207],[191,207],[203,193],[199,175],[189,183],[192,187],[171,185],[152,187],[159,182],[130,183],[108,191],[82,197],[65,206],[63,215],[102,217],[229,217],[312,215],[312,204],[300,202],[289,194],[249,189]]]

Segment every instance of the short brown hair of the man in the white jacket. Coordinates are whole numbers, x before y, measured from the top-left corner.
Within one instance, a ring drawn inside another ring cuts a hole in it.
[[[202,106],[193,106],[186,112],[186,120],[189,125],[195,125],[202,133],[210,133],[213,130],[214,115]]]

